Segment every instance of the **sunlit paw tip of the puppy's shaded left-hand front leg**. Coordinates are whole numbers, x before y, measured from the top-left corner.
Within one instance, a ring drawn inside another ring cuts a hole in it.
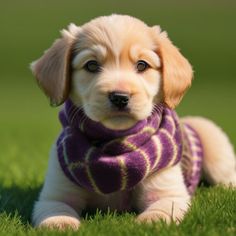
[[[71,216],[51,216],[44,219],[37,227],[45,227],[48,229],[59,229],[64,231],[66,229],[77,230],[80,222],[75,217]]]

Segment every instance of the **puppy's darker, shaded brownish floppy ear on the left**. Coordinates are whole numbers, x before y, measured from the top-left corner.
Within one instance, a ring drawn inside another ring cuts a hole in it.
[[[50,98],[52,106],[62,104],[70,90],[70,58],[72,45],[80,28],[70,24],[68,30],[61,32],[62,37],[57,39],[44,55],[31,64],[31,70],[39,86]]]

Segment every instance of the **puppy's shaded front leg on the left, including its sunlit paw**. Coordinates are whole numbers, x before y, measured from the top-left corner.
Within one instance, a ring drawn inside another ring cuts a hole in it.
[[[48,173],[33,211],[36,227],[72,228],[80,225],[78,212],[84,208],[83,191],[66,178],[57,160],[53,146]]]

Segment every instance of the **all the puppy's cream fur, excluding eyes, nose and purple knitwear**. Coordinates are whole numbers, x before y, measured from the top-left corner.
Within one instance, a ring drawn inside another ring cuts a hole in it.
[[[73,59],[72,51],[76,52]],[[102,64],[101,73],[84,70],[84,63],[92,59]],[[137,73],[135,63],[141,59],[147,61],[150,68]],[[100,17],[81,27],[71,24],[62,32],[62,38],[34,63],[32,70],[51,101],[60,104],[70,97],[75,104],[83,106],[91,119],[109,128],[119,124],[120,129],[146,118],[153,103],[177,106],[192,79],[190,64],[165,32],[120,15]],[[116,90],[132,95],[130,114],[113,114],[107,94]],[[208,179],[212,183],[235,186],[235,155],[225,134],[203,118],[184,120],[202,139],[204,172]],[[86,207],[123,210],[126,199],[124,192],[98,195],[73,184],[59,166],[54,145],[45,183],[34,206],[33,224],[61,230],[78,229],[81,211]],[[126,207],[139,209],[138,222],[164,219],[178,223],[191,204],[180,165],[145,179],[132,191],[130,200]]]

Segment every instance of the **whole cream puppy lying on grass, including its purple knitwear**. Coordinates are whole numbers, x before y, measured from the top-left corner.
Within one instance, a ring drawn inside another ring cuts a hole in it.
[[[35,226],[78,229],[88,207],[180,222],[201,170],[212,184],[236,186],[226,135],[173,110],[192,68],[159,26],[124,15],[71,24],[31,68],[51,104],[64,103]]]

